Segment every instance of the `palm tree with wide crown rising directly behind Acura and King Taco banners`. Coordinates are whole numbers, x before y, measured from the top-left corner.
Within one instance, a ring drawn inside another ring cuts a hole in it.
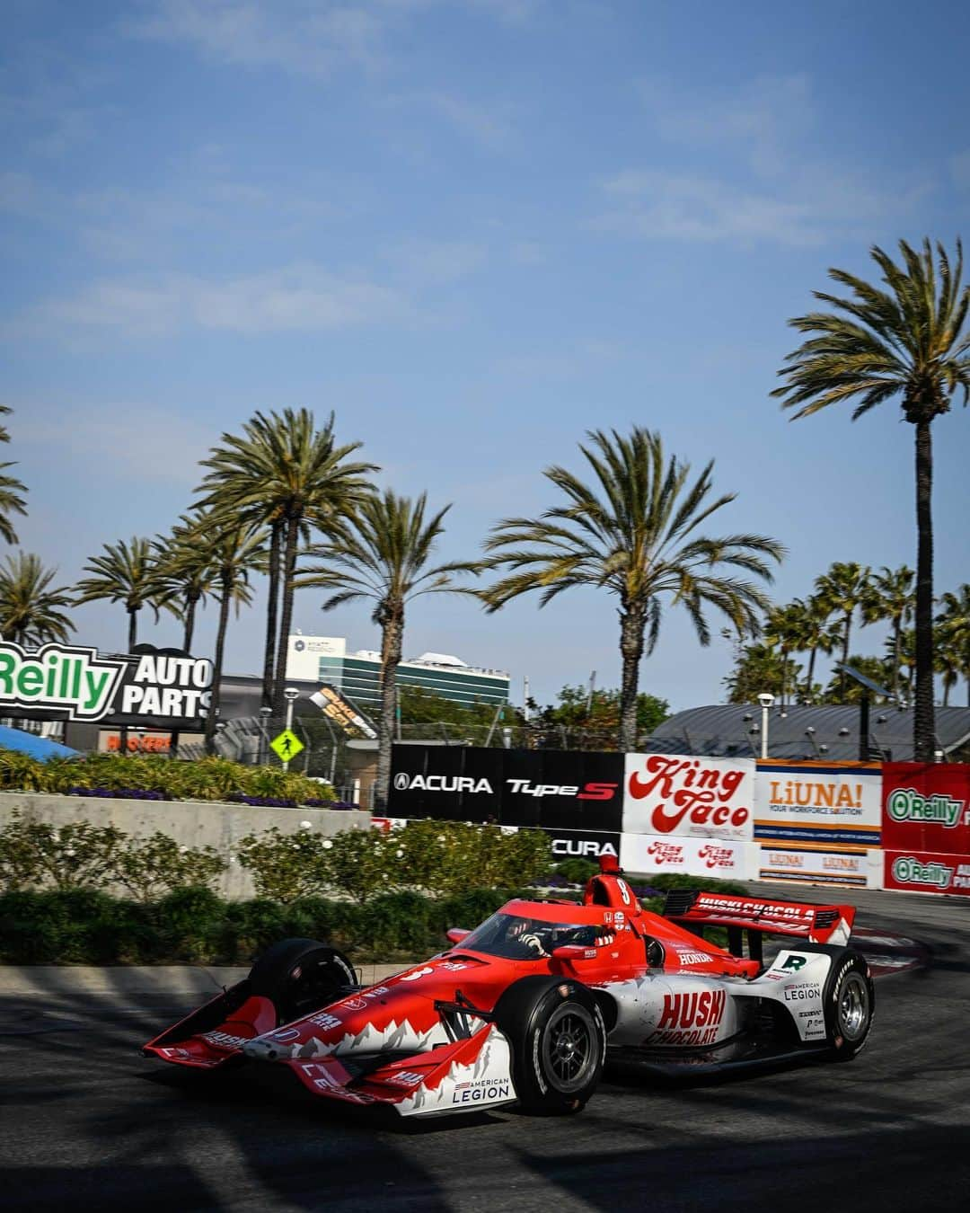
[[[595,483],[563,467],[546,469],[565,501],[538,518],[506,518],[492,528],[486,548],[493,554],[484,566],[509,571],[481,598],[489,611],[532,591],[544,606],[572,586],[598,586],[620,599],[620,748],[632,750],[640,660],[657,642],[662,602],[684,606],[703,645],[711,643],[704,605],[721,611],[738,637],[757,636],[768,599],[734,574],[771,581],[768,559],[780,560],[784,548],[763,535],[698,534],[735,497],[709,500],[713,461],[690,483],[690,465],[668,461],[660,434],[635,427],[628,438],[616,431],[588,438],[580,450]]]

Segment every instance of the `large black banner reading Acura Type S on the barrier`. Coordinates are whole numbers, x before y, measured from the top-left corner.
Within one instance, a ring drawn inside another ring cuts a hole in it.
[[[394,746],[389,814],[618,833],[621,754]],[[589,839],[588,839],[589,841]]]

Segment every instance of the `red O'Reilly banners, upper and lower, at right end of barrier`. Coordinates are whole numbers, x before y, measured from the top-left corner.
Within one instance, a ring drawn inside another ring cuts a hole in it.
[[[888,889],[970,896],[970,765],[886,763],[883,847]]]

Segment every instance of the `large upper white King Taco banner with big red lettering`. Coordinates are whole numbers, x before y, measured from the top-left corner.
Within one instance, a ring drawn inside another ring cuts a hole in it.
[[[623,832],[751,842],[754,759],[627,754]]]

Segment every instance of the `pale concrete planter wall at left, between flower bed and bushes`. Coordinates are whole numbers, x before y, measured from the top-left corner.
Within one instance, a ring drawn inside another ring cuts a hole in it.
[[[275,826],[293,833],[309,821],[315,833],[335,835],[341,830],[370,826],[371,814],[353,809],[257,809],[249,804],[213,801],[110,801],[102,797],[50,796],[42,792],[0,792],[0,826],[15,809],[24,819],[64,826],[90,821],[115,826],[132,838],[148,838],[160,831],[179,847],[212,847],[229,860],[229,867],[213,885],[219,896],[241,900],[256,895],[252,877],[236,859],[239,839]]]

